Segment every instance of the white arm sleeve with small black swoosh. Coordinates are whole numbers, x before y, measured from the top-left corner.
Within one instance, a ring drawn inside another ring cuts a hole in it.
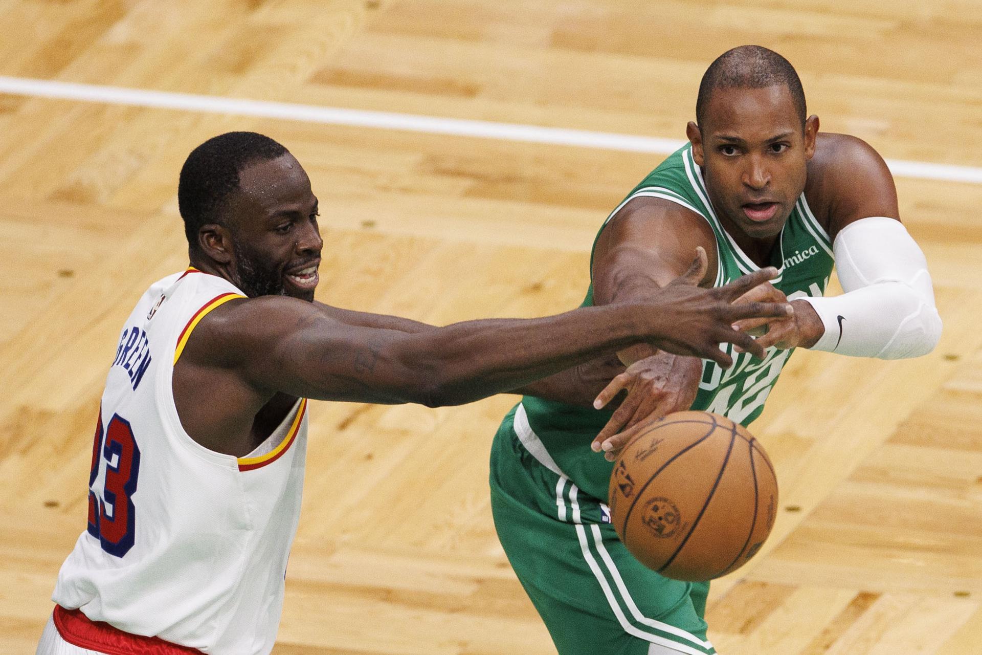
[[[849,223],[833,245],[842,296],[803,298],[825,325],[811,350],[881,359],[927,355],[941,316],[927,260],[900,221],[876,216]]]

